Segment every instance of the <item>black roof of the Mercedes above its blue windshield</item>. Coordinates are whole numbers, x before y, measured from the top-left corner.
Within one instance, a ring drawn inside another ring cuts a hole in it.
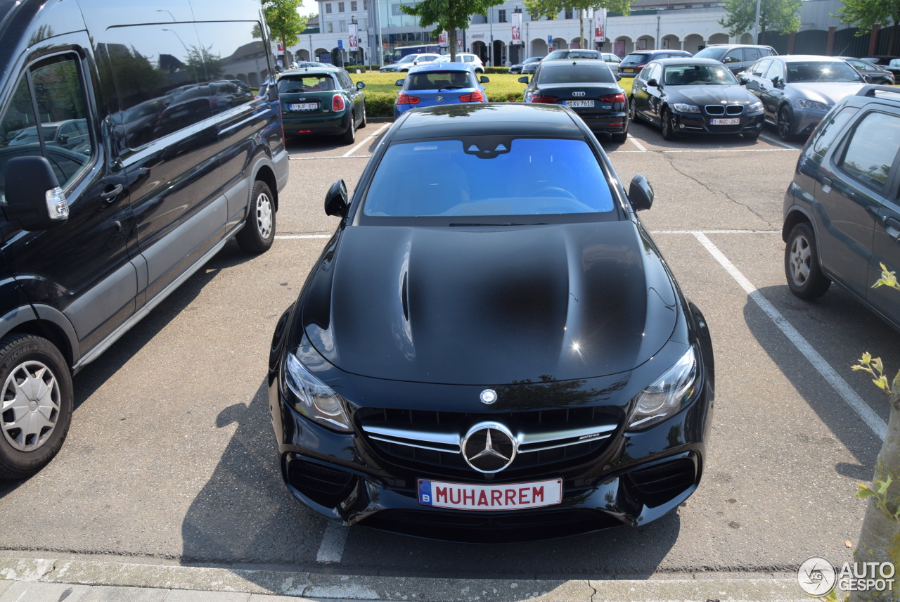
[[[466,115],[466,119],[459,119]],[[584,138],[572,109],[561,104],[446,104],[403,113],[393,140],[455,138],[478,135]]]

